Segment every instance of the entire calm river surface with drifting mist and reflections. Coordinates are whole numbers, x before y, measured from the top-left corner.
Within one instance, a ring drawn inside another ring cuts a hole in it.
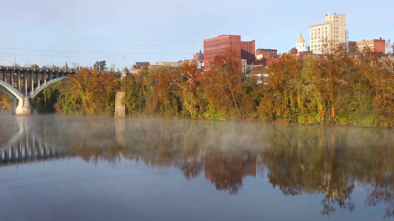
[[[0,114],[1,220],[390,220],[393,135]]]

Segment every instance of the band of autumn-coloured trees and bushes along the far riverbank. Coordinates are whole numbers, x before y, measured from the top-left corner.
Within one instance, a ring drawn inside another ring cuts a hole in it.
[[[45,88],[33,105],[39,112],[113,115],[115,93],[122,90],[130,116],[392,127],[394,44],[388,46],[383,57],[369,51],[355,56],[344,45],[319,59],[287,53],[249,77],[232,51],[217,55],[205,72],[194,63],[176,70],[145,65],[119,79],[83,68]]]

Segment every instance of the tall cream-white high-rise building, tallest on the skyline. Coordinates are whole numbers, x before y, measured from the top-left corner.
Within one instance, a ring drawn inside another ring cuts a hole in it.
[[[327,39],[328,50],[336,48],[341,43],[345,43],[345,13],[340,15],[327,13],[323,23],[309,26],[310,50],[315,54],[323,53],[324,40]]]

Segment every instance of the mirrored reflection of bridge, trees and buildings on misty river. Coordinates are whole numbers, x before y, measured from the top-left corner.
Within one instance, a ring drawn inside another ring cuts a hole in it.
[[[322,195],[327,216],[362,210],[352,199],[359,185],[366,206],[385,204],[382,216],[394,215],[391,129],[54,115],[2,122],[4,167],[65,156],[94,164],[125,158],[176,167],[188,180],[204,176],[232,195],[245,177],[264,176],[283,195]]]

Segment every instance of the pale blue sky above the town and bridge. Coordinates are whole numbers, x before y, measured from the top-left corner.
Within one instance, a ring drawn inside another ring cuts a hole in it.
[[[203,49],[204,39],[222,34],[286,52],[300,32],[309,45],[308,26],[328,12],[346,13],[350,41],[394,39],[392,0],[4,0],[0,6],[4,65],[14,57],[21,65],[42,59],[43,65],[91,66],[109,64],[111,56],[119,69],[136,61],[178,61]]]

